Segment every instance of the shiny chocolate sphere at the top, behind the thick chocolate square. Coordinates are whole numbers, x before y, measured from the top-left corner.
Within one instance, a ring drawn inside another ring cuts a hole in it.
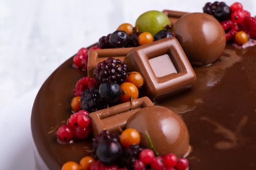
[[[172,31],[192,65],[213,63],[226,46],[222,26],[205,13],[190,13],[179,18]]]

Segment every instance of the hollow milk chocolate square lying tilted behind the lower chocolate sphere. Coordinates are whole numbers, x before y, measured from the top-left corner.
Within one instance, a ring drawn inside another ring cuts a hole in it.
[[[141,108],[152,105],[154,104],[148,97],[142,97],[90,113],[93,136],[98,136],[103,130],[120,133],[130,116]]]

